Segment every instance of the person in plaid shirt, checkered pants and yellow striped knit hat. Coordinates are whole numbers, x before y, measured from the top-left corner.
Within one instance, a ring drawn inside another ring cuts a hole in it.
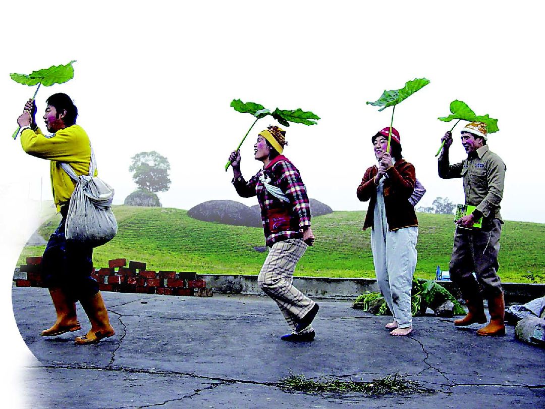
[[[284,341],[312,341],[312,320],[319,306],[292,285],[293,272],[308,245],[314,243],[310,206],[297,168],[282,155],[286,132],[270,126],[259,133],[253,146],[263,169],[249,181],[240,173],[240,152],[229,156],[233,185],[239,196],[257,196],[269,255],[257,278],[259,286],[275,300],[292,329]]]

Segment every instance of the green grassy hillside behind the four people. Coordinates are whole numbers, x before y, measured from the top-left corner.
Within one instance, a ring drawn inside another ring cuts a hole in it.
[[[119,233],[96,248],[96,267],[112,258],[146,262],[148,269],[196,271],[200,274],[258,274],[266,253],[263,230],[208,223],[187,216],[186,210],[114,206]],[[374,277],[370,231],[362,231],[365,212],[334,212],[312,219],[314,246],[295,275]],[[419,213],[419,253],[416,276],[432,278],[438,264],[448,269],[454,225],[451,215]],[[44,238],[57,227],[56,215],[39,228]],[[503,281],[545,282],[545,225],[507,221],[501,237],[500,276]],[[41,255],[44,246],[23,249],[25,257]]]

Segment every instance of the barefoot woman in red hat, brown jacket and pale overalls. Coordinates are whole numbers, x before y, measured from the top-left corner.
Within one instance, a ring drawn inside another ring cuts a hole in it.
[[[386,324],[391,335],[409,335],[412,330],[411,289],[416,268],[418,221],[409,198],[416,183],[414,166],[401,155],[399,133],[391,128],[390,151],[386,152],[390,127],[373,135],[379,166],[371,166],[358,187],[358,199],[370,201],[364,230],[371,227],[371,249],[377,282],[393,321]]]

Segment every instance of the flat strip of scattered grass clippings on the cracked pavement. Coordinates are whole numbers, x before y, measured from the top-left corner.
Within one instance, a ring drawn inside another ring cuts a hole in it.
[[[431,394],[435,391],[425,388],[416,381],[407,380],[399,374],[387,375],[384,378],[373,379],[370,382],[343,381],[333,378],[307,379],[304,375],[293,375],[282,379],[278,386],[290,392],[334,393],[343,394],[358,392],[369,396],[388,394],[409,395],[414,393]]]

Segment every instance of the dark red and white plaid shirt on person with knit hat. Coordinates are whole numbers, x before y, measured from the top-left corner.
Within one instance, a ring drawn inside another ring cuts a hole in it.
[[[289,202],[278,199],[265,189],[260,180],[262,173],[265,179],[270,178],[269,184],[282,189]],[[310,206],[299,171],[286,157],[278,155],[247,182],[240,176],[233,178],[232,183],[239,196],[257,196],[267,246],[303,237],[303,227],[310,226]]]

